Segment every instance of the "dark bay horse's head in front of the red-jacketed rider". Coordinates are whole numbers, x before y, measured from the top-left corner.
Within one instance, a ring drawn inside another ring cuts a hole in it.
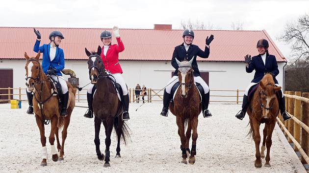
[[[89,79],[91,84],[96,84],[100,77],[106,76],[105,68],[100,56],[102,53],[102,48],[99,45],[97,52],[89,52],[87,48],[85,48],[85,51],[86,55],[89,57],[87,62],[89,69]]]

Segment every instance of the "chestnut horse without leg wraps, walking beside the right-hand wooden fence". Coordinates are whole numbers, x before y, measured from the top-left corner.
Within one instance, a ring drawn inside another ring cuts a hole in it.
[[[257,90],[254,92],[251,99],[250,108],[247,110],[250,119],[249,135],[252,135],[256,145],[256,161],[255,167],[262,166],[261,158],[265,157],[265,143],[267,148],[265,167],[270,167],[270,147],[272,144],[271,136],[276,124],[276,117],[279,113],[279,102],[276,97],[276,92],[281,89],[281,86],[275,86],[273,76],[271,74],[264,75],[263,79],[259,82]],[[259,126],[265,123],[263,130],[263,142],[261,151],[259,151],[260,134]]]

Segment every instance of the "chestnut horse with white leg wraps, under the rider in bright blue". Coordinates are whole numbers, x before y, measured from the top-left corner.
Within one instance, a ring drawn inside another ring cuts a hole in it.
[[[67,107],[68,116],[60,117],[60,108],[58,106],[58,97],[52,94],[52,83],[50,77],[46,76],[43,72],[42,66],[39,62],[40,51],[36,57],[29,58],[25,52],[26,58],[26,86],[29,91],[34,92],[33,97],[33,110],[35,114],[36,124],[39,127],[42,144],[42,162],[41,166],[47,165],[47,149],[46,149],[46,137],[44,124],[47,120],[51,121],[51,133],[49,141],[51,143],[52,160],[63,160],[64,155],[64,142],[67,137],[67,129],[70,124],[70,118],[73,108],[75,107],[75,93],[72,85],[67,82],[69,90],[69,102]],[[62,130],[62,144],[60,145],[58,132]],[[58,156],[56,148],[54,146],[55,136],[57,139],[57,149],[60,151]]]

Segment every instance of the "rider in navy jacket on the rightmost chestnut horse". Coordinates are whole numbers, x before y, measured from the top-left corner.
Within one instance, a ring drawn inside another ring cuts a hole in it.
[[[258,55],[252,57],[250,55],[245,56],[246,72],[251,73],[253,70],[256,70],[254,79],[251,81],[251,84],[246,88],[245,94],[242,101],[242,109],[236,114],[236,118],[242,120],[245,117],[247,108],[249,105],[248,92],[249,89],[258,84],[260,80],[264,77],[266,73],[273,75],[275,85],[279,86],[276,76],[279,74],[278,64],[276,57],[268,53],[268,41],[261,39],[257,43]],[[280,112],[283,116],[283,120],[286,121],[291,117],[285,112],[285,99],[282,90],[279,92],[281,99],[279,99]]]

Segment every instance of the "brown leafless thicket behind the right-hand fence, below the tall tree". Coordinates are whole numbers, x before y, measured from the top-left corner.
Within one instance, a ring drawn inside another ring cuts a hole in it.
[[[285,68],[284,90],[309,92],[309,63],[299,60]]]

